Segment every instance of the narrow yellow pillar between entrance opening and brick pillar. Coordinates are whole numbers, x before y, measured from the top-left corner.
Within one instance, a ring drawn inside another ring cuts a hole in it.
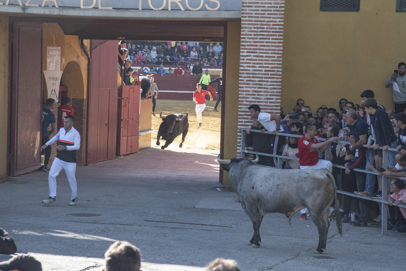
[[[227,63],[225,77],[224,159],[237,157],[238,78],[240,74],[241,21],[227,22]],[[222,108],[223,109],[223,108]],[[224,171],[223,187],[230,187],[228,172]]]

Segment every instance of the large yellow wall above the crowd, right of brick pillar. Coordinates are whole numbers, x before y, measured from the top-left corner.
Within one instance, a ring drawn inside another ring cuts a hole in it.
[[[340,98],[359,104],[371,89],[387,109],[392,90],[384,82],[406,62],[406,13],[395,0],[361,1],[360,12],[322,12],[320,0],[285,1],[281,104],[285,113],[303,98],[314,112],[338,109]]]

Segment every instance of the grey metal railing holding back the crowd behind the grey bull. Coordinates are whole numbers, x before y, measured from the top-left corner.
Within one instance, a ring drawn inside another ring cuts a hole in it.
[[[299,158],[297,157],[292,157],[292,156],[283,156],[283,155],[277,155],[277,154],[268,154],[268,153],[263,153],[263,152],[253,152],[250,150],[247,150],[245,147],[245,130],[246,128],[238,128],[241,131],[241,145],[240,145],[240,158],[244,158],[243,154],[259,154],[259,155],[263,155],[263,156],[271,156],[271,157],[276,157],[278,158],[278,168],[282,169],[282,164],[283,164],[283,160],[282,159],[289,159],[289,160],[299,160]],[[252,130],[250,132],[260,132],[260,130]],[[272,134],[272,132],[264,132],[265,134]],[[276,133],[276,137],[302,137],[302,135],[296,135],[296,134],[285,134],[285,133]],[[318,141],[326,141],[327,139],[324,138],[320,138],[320,137],[316,137],[316,139]],[[348,141],[342,141],[342,140],[336,140],[334,142],[337,143],[342,143],[343,145],[350,145],[351,143]],[[363,147],[367,147],[367,145],[363,145]],[[380,149],[382,150],[382,147],[380,147]],[[396,149],[393,148],[388,148],[387,150],[383,150],[383,158],[382,158],[382,165],[384,165],[387,168],[388,165],[388,155],[389,155],[389,151],[395,151],[397,152]],[[328,147],[325,151],[325,155],[331,154],[331,143],[328,144]],[[366,157],[365,157],[366,159]],[[345,166],[343,165],[337,165],[337,164],[333,164],[333,167],[338,167],[341,169],[346,169]],[[367,171],[365,169],[353,169],[354,171],[358,171],[358,172],[364,172],[367,174],[374,174],[377,176],[380,176],[379,173],[374,172],[374,171]],[[401,180],[406,180],[405,177],[392,177],[392,178],[396,178],[396,179],[401,179]],[[343,195],[348,195],[350,197],[357,197],[360,199],[365,199],[365,200],[370,200],[370,201],[374,201],[374,202],[378,202],[380,203],[380,207],[381,207],[381,234],[382,235],[387,235],[387,215],[388,215],[388,201],[386,196],[388,195],[389,191],[388,191],[388,181],[389,178],[387,176],[382,176],[382,197],[380,199],[373,199],[371,197],[365,197],[365,196],[360,196],[360,195],[356,195],[354,193],[351,192],[347,192],[347,191],[342,191],[342,190],[338,190],[337,189],[337,193],[343,194]],[[405,204],[393,204],[394,206],[399,206],[399,207],[403,207],[406,208]],[[338,207],[336,206],[336,209]],[[338,208],[339,209],[339,208]],[[337,210],[336,210],[337,211]]]

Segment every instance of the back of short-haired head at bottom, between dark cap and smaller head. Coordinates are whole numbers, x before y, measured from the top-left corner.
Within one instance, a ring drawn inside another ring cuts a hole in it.
[[[127,241],[117,241],[104,254],[104,271],[139,271],[140,250]]]

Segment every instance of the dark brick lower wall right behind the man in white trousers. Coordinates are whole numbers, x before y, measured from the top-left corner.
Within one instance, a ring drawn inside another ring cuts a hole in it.
[[[72,99],[72,108],[75,110],[73,117],[75,123],[73,127],[78,130],[80,134],[80,149],[76,151],[76,164],[85,164],[85,123],[86,123],[86,99]]]

